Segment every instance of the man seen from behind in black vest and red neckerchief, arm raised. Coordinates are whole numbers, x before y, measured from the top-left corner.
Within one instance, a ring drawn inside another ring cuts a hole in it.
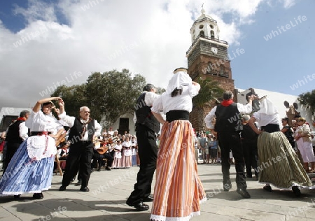
[[[241,149],[241,114],[252,111],[252,103],[255,95],[248,97],[248,104],[243,105],[233,102],[233,93],[223,93],[223,101],[214,107],[204,118],[206,126],[211,129],[211,134],[216,134],[221,148],[221,165],[223,173],[223,190],[229,191],[232,187],[230,180],[230,150],[235,159],[237,193],[244,198],[251,196],[247,192],[246,178],[244,175],[243,150]],[[212,120],[216,118],[216,123]]]

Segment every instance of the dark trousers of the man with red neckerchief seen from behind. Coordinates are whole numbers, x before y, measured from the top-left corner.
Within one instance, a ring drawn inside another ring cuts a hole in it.
[[[218,132],[218,141],[221,148],[221,166],[223,173],[223,185],[230,183],[230,150],[232,150],[235,159],[235,170],[237,173],[237,188],[246,190],[246,178],[244,175],[243,150],[241,148],[241,139],[236,131]]]

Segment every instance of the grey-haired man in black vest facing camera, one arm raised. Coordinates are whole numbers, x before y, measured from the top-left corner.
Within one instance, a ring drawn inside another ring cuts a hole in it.
[[[87,106],[80,107],[80,117],[70,117],[64,112],[64,101],[59,101],[59,118],[71,128],[68,141],[70,141],[69,155],[66,159],[66,168],[62,178],[62,186],[59,191],[66,190],[71,180],[76,176],[79,167],[81,180],[80,191],[90,191],[87,187],[90,180],[91,160],[93,156],[94,136],[100,136],[102,126],[90,117],[90,109]]]

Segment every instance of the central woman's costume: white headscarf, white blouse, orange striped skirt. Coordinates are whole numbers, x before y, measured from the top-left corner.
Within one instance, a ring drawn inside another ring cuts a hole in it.
[[[176,88],[182,94],[172,97]],[[151,220],[190,220],[200,215],[200,202],[207,199],[197,174],[194,131],[188,120],[192,97],[199,90],[200,85],[192,85],[188,74],[180,71],[153,103],[151,110],[166,113],[167,122],[160,138]]]

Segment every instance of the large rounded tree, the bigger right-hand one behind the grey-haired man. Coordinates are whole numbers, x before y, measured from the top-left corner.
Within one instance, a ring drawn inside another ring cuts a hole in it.
[[[134,104],[141,94],[146,79],[129,70],[95,72],[87,79],[87,101],[95,119],[108,128],[125,113],[134,113]]]

